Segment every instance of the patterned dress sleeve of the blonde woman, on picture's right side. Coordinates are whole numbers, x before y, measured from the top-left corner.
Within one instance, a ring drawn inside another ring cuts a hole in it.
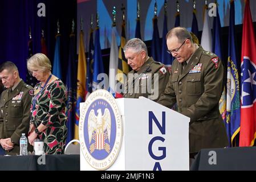
[[[42,120],[44,126],[51,126],[56,121],[56,118],[60,116],[59,113],[65,109],[66,101],[67,93],[65,85],[62,82],[56,82],[51,90],[49,111]]]

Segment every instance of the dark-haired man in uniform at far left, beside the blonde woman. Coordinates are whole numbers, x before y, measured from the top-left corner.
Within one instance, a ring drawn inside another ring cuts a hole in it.
[[[0,78],[6,90],[0,100],[0,143],[7,155],[19,155],[19,139],[27,134],[33,88],[19,77],[11,61],[0,66]]]

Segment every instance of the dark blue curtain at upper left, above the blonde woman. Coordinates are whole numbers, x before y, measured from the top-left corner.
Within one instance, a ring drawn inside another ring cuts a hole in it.
[[[46,6],[46,16],[38,16],[38,4]],[[67,68],[68,42],[72,19],[76,22],[76,0],[2,0],[0,1],[0,63],[13,61],[20,76],[26,80],[29,27],[31,27],[33,51],[41,52],[41,30],[44,30],[48,57],[53,62],[56,22],[59,19],[62,45],[60,45],[62,70]],[[75,27],[76,30],[76,27]],[[66,75],[63,75],[63,81]]]

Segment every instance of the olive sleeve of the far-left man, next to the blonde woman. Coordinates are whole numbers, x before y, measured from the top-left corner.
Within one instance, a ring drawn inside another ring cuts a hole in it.
[[[31,106],[31,100],[32,100],[32,96],[29,91],[30,90],[26,90],[26,92],[23,93],[24,96],[22,101],[22,104],[23,104],[22,105],[22,109],[23,109],[22,122],[15,129],[14,133],[11,135],[11,141],[13,141],[15,144],[19,144],[19,138],[21,137],[22,133],[27,134],[29,132],[30,106]]]

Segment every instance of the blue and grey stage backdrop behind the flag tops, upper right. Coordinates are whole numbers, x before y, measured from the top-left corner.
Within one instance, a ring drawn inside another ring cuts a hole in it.
[[[86,33],[84,36],[84,41],[88,42],[89,28],[91,14],[94,15],[94,23],[96,21],[96,13],[99,13],[99,26],[100,26],[100,44],[101,48],[109,48],[111,43],[111,25],[112,25],[112,9],[113,6],[116,6],[117,11],[117,31],[119,36],[117,36],[117,43],[120,43],[121,35],[121,21],[122,21],[122,3],[125,6],[125,16],[126,20],[126,36],[127,39],[135,37],[135,27],[136,27],[136,18],[137,18],[137,0],[78,0],[78,24],[80,24],[80,18],[83,17],[83,28]],[[152,39],[152,18],[154,16],[154,5],[155,0],[140,0],[140,11],[141,11],[141,36],[143,40]],[[156,0],[157,9],[158,9],[158,26],[160,37],[162,37],[162,27],[164,20],[164,0]],[[208,3],[215,2],[215,0],[209,0]],[[229,9],[230,3],[229,0],[218,0],[218,11],[220,14],[221,26],[229,26]],[[197,0],[196,9],[197,9],[197,22],[199,31],[202,30],[202,14],[205,1]],[[180,0],[180,25],[182,27],[191,29],[192,26],[192,12],[193,5],[191,0]],[[176,1],[168,0],[168,30],[174,27],[175,15],[176,15]],[[241,24],[243,19],[243,9],[245,3],[244,0],[235,1],[235,24]],[[250,1],[251,12],[256,11],[256,1]],[[256,14],[251,14],[253,17],[253,22],[256,21]],[[210,24],[213,22],[213,17],[210,17]],[[95,27],[95,24],[94,24]],[[78,26],[78,31],[80,27]]]

